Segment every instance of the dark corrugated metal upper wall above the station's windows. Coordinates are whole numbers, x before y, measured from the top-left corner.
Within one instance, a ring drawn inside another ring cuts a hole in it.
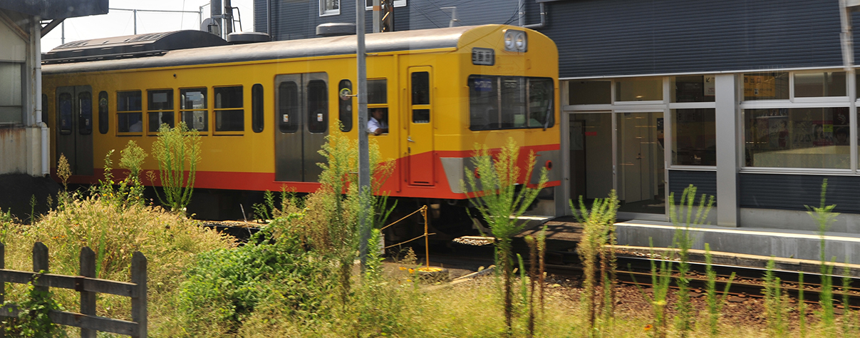
[[[550,26],[542,31],[559,47],[561,77],[842,64],[837,0],[546,4]]]

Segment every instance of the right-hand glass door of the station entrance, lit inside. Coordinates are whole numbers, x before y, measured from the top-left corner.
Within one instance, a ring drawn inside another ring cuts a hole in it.
[[[619,212],[666,213],[663,113],[617,114]]]

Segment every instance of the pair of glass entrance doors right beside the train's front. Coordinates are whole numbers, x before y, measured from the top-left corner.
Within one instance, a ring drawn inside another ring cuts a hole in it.
[[[615,189],[618,212],[666,213],[663,113],[572,114],[569,131],[574,204]]]

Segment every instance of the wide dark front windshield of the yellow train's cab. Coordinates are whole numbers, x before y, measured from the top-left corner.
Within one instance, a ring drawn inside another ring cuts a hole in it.
[[[472,75],[468,84],[472,131],[555,125],[550,78]]]

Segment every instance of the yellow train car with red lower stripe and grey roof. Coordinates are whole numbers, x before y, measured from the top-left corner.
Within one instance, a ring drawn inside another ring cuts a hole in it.
[[[395,162],[383,192],[403,206],[463,205],[476,144],[534,151],[531,181],[560,161],[558,53],[544,34],[487,25],[365,39],[368,107],[388,126],[369,138]],[[185,121],[203,138],[195,188],[313,192],[326,136],[367,130],[351,96],[355,51],[354,35],[228,45],[199,31],[58,46],[42,67],[52,172],[63,154],[71,182],[94,183],[107,151],[130,139],[149,151],[159,125]],[[560,179],[550,170],[550,187]]]

